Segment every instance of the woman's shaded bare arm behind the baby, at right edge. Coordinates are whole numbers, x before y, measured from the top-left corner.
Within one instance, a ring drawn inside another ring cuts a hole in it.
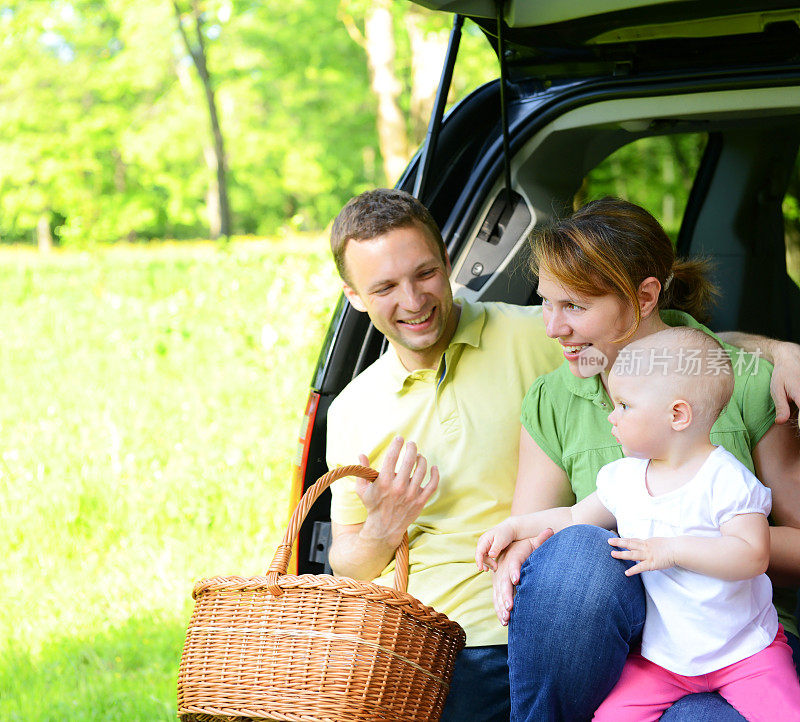
[[[800,436],[774,424],[753,449],[756,476],[772,490],[768,573],[781,586],[800,584]]]

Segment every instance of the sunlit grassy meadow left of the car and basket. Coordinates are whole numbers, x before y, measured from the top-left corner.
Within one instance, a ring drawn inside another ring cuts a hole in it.
[[[264,570],[324,240],[0,251],[0,719],[173,720],[195,579]]]

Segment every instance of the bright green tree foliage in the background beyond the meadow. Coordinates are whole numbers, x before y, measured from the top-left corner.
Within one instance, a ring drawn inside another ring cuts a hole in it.
[[[384,182],[366,56],[340,4],[201,3],[235,232],[324,227]],[[409,7],[394,8],[406,108]],[[446,37],[449,16],[426,18]],[[0,242],[35,242],[41,222],[78,246],[207,233],[208,111],[170,2],[7,2],[0,37]],[[482,44],[465,35],[457,93],[490,74]]]

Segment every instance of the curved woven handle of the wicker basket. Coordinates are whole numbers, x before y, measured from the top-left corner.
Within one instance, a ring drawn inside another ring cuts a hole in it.
[[[278,586],[278,577],[286,574],[294,540],[297,538],[300,526],[305,521],[309,509],[325,489],[337,479],[342,479],[345,476],[360,476],[362,479],[375,481],[378,478],[378,472],[368,466],[339,466],[317,479],[309,487],[308,491],[303,494],[303,498],[300,499],[292,513],[292,518],[289,520],[289,526],[283,535],[283,541],[275,550],[272,564],[269,565],[267,570],[268,589],[274,596],[279,597],[283,594],[283,589]],[[399,592],[405,592],[408,589],[408,532],[403,533],[403,540],[395,550],[394,588]]]

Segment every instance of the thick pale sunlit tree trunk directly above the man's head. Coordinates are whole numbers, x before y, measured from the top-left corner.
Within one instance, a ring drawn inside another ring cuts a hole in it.
[[[378,143],[386,180],[394,184],[409,158],[406,122],[397,102],[402,85],[394,72],[395,44],[389,0],[375,0],[364,22],[372,90],[378,98]]]

